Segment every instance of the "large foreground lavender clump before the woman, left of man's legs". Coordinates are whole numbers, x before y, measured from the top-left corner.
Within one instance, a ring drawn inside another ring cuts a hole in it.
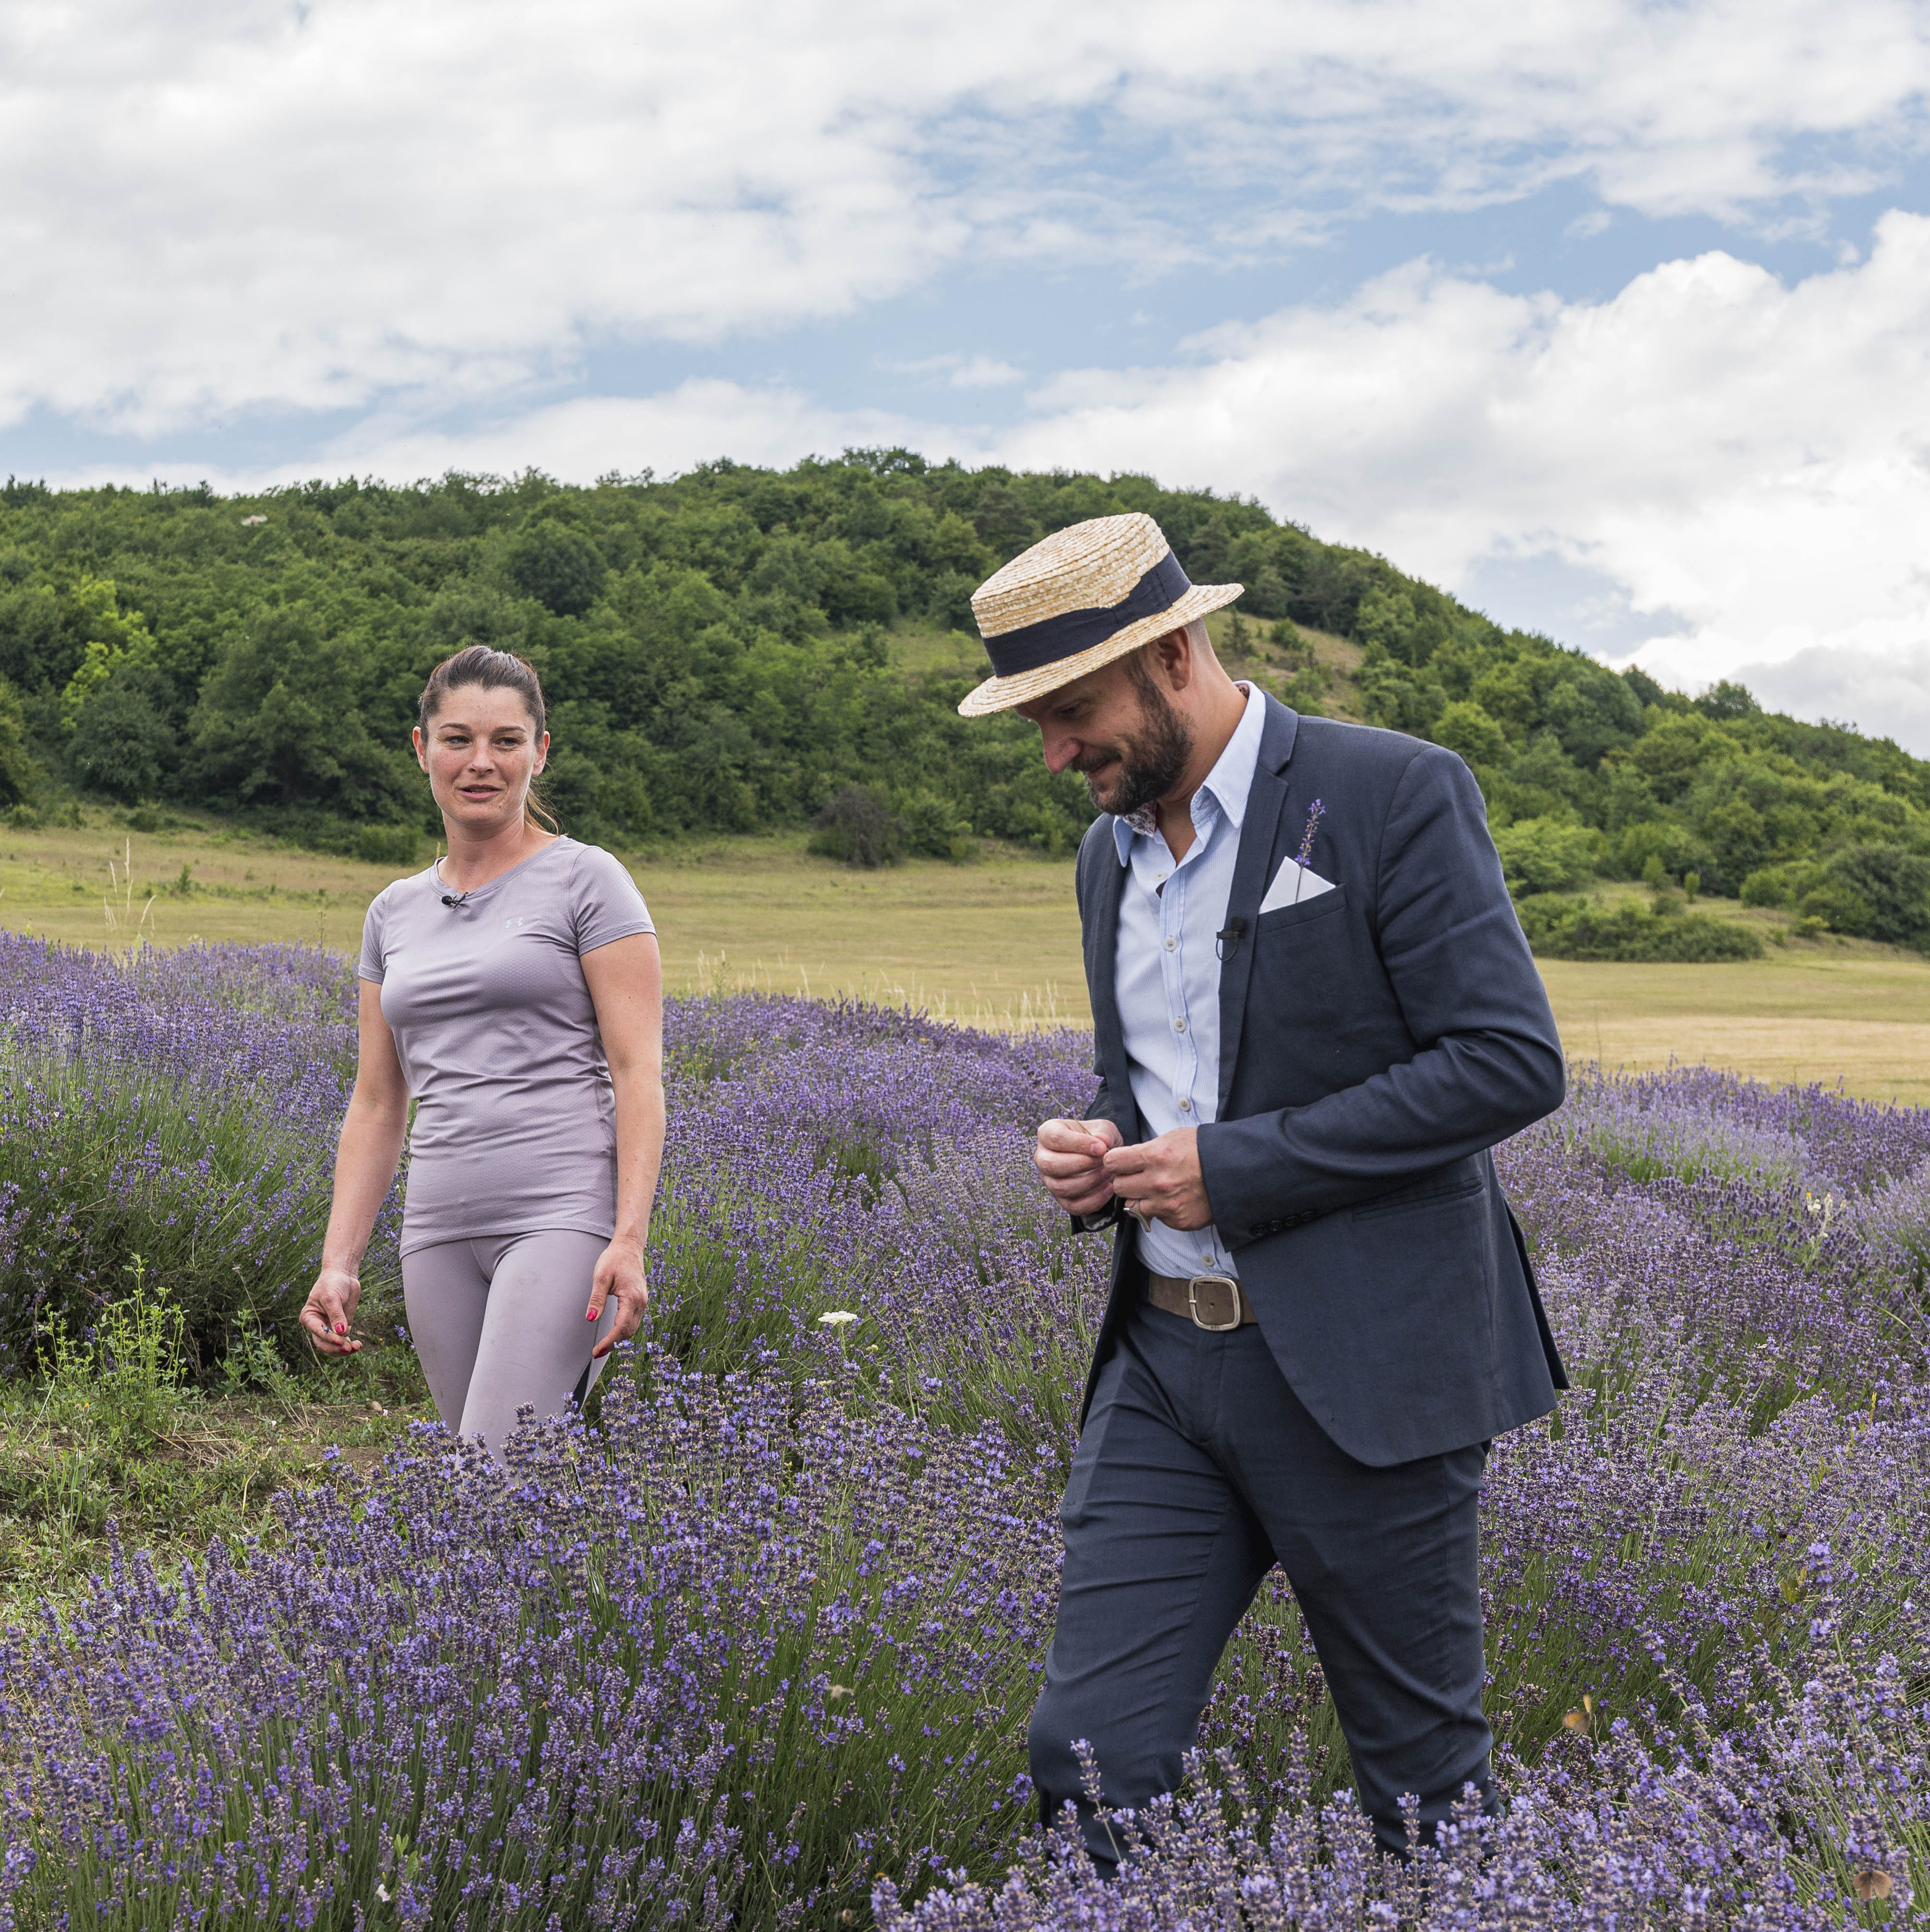
[[[508,1484],[439,1434],[367,1497],[294,1501],[247,1569],[168,1590],[137,1563],[112,1683],[91,1642],[37,1646],[35,1714],[0,1694],[0,1820],[60,1841],[10,1853],[0,1915],[838,1924],[881,1868],[989,1870],[1022,1828],[1057,1519],[995,1432],[659,1356],[612,1379],[597,1439],[516,1443]],[[35,1762],[21,1719],[87,1731],[85,1774]]]

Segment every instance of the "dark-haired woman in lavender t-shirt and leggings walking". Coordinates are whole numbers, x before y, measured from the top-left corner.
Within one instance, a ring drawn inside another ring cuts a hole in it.
[[[357,1269],[410,1138],[402,1296],[442,1420],[500,1459],[643,1320],[663,1159],[663,976],[630,873],[545,831],[543,688],[469,645],[421,696],[448,856],[369,906],[361,1059],[301,1325],[348,1356]],[[415,1124],[408,1128],[410,1101]]]

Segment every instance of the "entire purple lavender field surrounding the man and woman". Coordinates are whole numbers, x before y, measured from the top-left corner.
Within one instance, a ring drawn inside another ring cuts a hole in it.
[[[185,1376],[290,1341],[352,993],[0,941],[14,1378],[135,1254]],[[0,1928],[1922,1917],[1930,1115],[1582,1076],[1501,1150],[1576,1381],[1490,1464],[1507,1814],[1383,1868],[1277,1586],[1099,1889],[1024,1777],[1105,1275],[1026,1144],[1088,1041],[746,997],[668,1049],[655,1316],[597,1414],[508,1478],[419,1428],[0,1636]]]

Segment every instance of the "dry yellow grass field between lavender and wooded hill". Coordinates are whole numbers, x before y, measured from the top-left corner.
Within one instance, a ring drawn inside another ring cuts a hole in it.
[[[1066,860],[862,873],[813,858],[796,835],[626,858],[676,991],[844,993],[995,1028],[1088,1020]],[[392,873],[216,825],[143,835],[95,813],[77,829],[0,831],[0,925],[93,947],[199,937],[350,951]],[[1787,943],[1733,966],[1546,960],[1575,1059],[1710,1061],[1772,1082],[1841,1080],[1874,1099],[1930,1103],[1930,960],[1795,939],[1777,914],[1733,904],[1698,910],[1748,920],[1772,939],[1783,931]]]

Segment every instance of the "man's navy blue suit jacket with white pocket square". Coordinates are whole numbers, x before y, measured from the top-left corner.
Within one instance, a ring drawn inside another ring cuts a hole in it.
[[[1262,914],[1316,798],[1312,866],[1335,889]],[[1124,877],[1103,815],[1078,854],[1093,1113],[1136,1142],[1115,997]],[[1370,1464],[1547,1414],[1567,1378],[1488,1150],[1561,1103],[1561,1039],[1468,767],[1267,699],[1227,918],[1246,929],[1221,966],[1200,1167],[1294,1395]],[[1119,1227],[1092,1378],[1140,1293]]]

